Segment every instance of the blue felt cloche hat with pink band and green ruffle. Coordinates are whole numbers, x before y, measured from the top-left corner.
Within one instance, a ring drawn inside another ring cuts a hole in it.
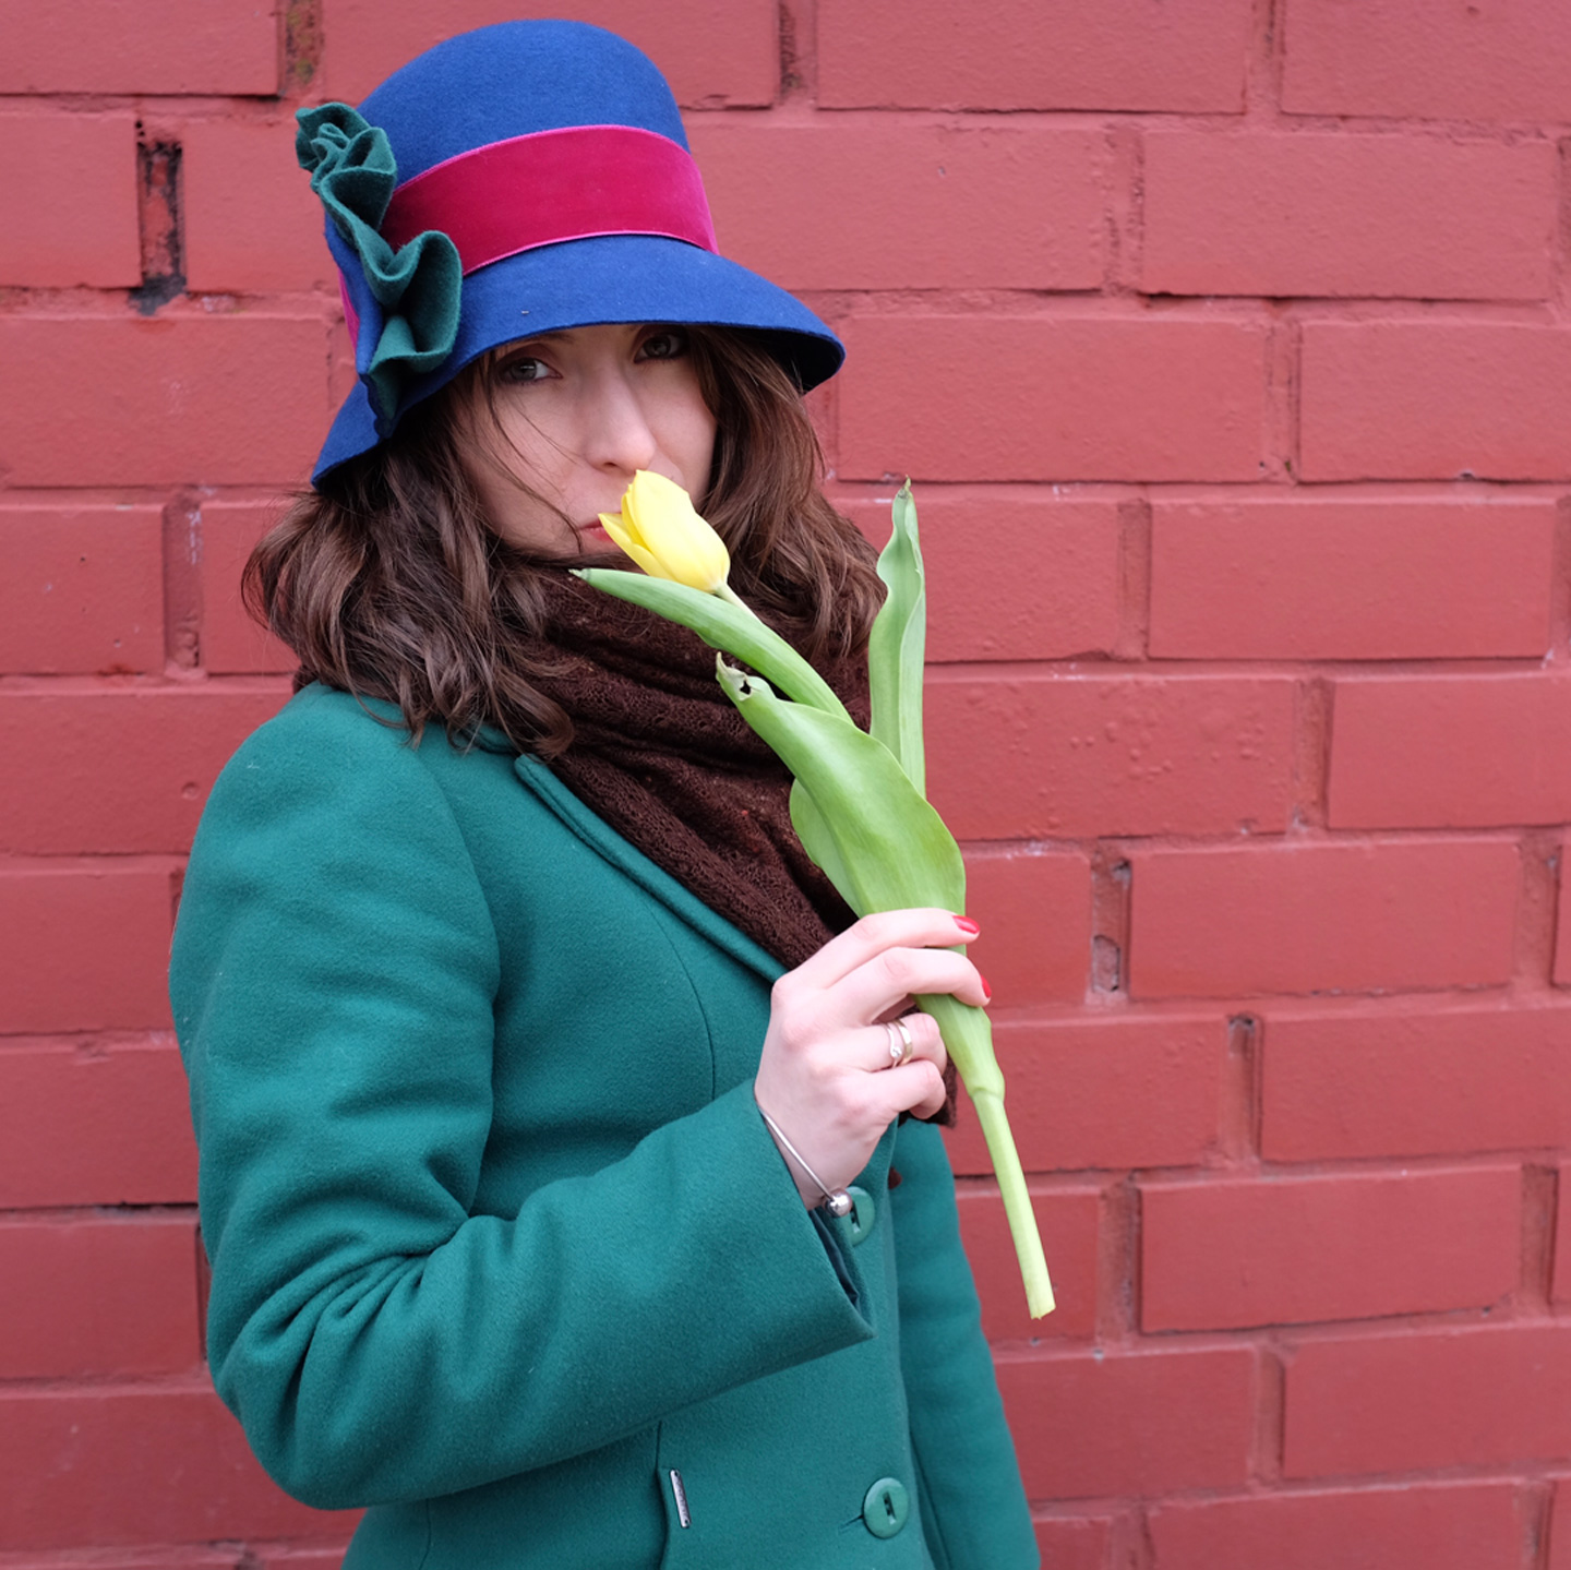
[[[314,484],[517,338],[746,327],[803,390],[845,357],[804,305],[718,255],[671,90],[614,33],[482,27],[412,60],[360,110],[325,104],[297,121],[360,372]]]

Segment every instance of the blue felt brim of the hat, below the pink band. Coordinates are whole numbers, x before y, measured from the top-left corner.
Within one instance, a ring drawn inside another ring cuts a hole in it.
[[[845,358],[839,338],[812,311],[756,272],[685,240],[597,234],[522,251],[465,278],[452,354],[410,388],[399,418],[489,349],[606,322],[748,328],[767,339],[803,391],[834,376]],[[357,383],[328,431],[311,484],[380,440],[364,383]]]

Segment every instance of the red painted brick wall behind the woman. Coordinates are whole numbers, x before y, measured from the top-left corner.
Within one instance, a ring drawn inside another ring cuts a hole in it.
[[[207,1388],[163,959],[349,371],[300,102],[503,0],[0,5],[0,1561],[322,1567]],[[578,0],[911,473],[1060,1295],[1046,1562],[1571,1570],[1563,0]],[[179,283],[170,275],[182,275]]]

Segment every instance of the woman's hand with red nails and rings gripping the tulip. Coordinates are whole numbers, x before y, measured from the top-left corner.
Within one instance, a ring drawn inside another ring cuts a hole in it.
[[[944,1053],[938,1025],[906,1014],[911,1000],[949,992],[961,1003],[988,1001],[976,965],[949,945],[969,943],[976,923],[947,910],[886,910],[862,916],[811,960],[775,982],[753,1094],[829,1188],[844,1188],[900,1113],[932,1117],[944,1105]],[[911,1058],[884,1020],[903,1020]],[[779,1141],[776,1139],[776,1144]],[[818,1185],[786,1157],[809,1207]]]

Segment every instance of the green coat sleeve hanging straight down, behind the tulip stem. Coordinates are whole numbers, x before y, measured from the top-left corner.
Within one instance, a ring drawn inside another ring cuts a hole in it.
[[[922,1529],[938,1570],[1035,1570],[1031,1510],[960,1246],[955,1182],[938,1128],[902,1124],[894,1165],[900,1367],[911,1410]]]

